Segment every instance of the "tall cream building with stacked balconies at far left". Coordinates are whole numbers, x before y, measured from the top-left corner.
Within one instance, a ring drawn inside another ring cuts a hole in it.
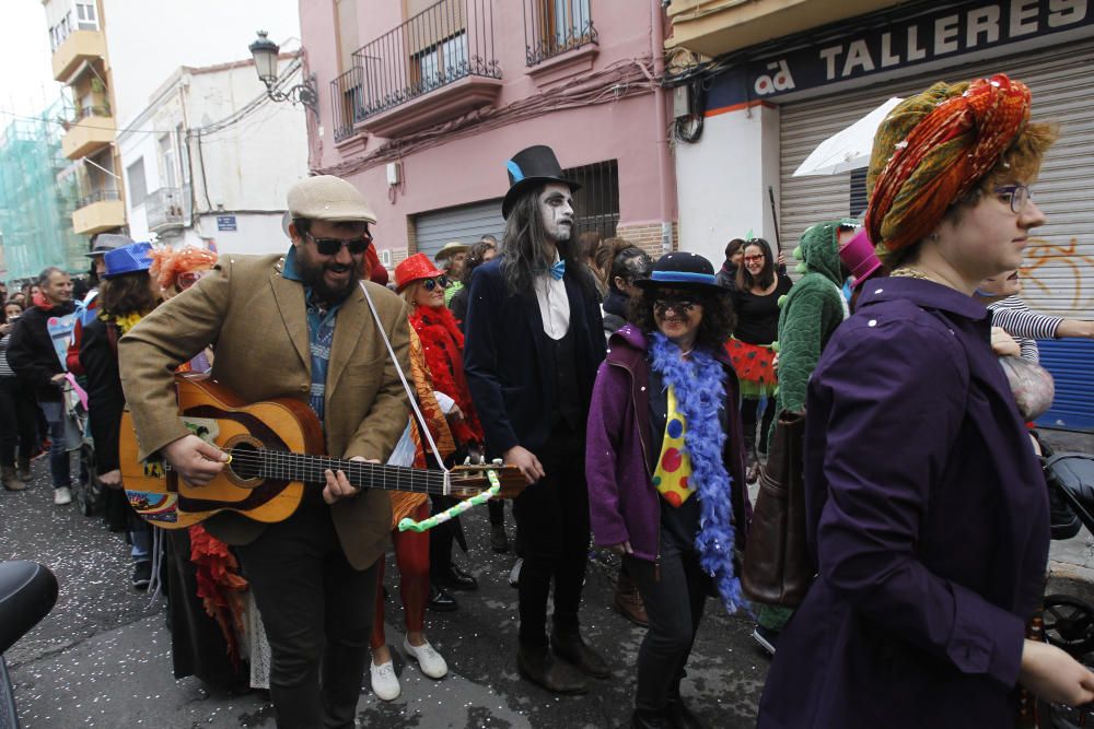
[[[118,232],[126,224],[103,0],[44,0],[43,5],[54,79],[68,86],[72,101],[63,119],[61,149],[78,163],[72,227],[77,235],[88,236],[86,243],[90,236]]]

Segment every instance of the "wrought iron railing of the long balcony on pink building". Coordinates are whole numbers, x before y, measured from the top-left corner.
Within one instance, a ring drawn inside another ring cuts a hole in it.
[[[467,77],[500,79],[492,0],[441,0],[353,52],[361,69],[358,119]]]

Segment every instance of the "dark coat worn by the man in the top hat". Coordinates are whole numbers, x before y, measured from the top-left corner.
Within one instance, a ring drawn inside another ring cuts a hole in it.
[[[603,322],[592,283],[582,286],[575,274],[565,281],[578,358],[573,386],[587,411],[604,360]],[[498,457],[516,445],[535,452],[550,433],[556,387],[556,373],[545,372],[549,343],[535,294],[509,293],[501,261],[492,260],[475,269],[468,299],[464,372],[487,454]]]

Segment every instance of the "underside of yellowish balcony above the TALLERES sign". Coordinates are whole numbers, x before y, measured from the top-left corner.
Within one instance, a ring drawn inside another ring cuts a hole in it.
[[[719,56],[903,0],[672,0],[665,46]]]

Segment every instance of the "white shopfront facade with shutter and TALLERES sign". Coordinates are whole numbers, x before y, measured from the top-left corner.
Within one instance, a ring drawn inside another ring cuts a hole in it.
[[[1035,186],[1048,222],[1026,249],[1036,310],[1094,311],[1094,3],[1078,0],[846,2],[673,0],[666,43],[677,126],[680,236],[710,257],[754,231],[784,250],[813,223],[859,215],[865,171],[794,176],[826,138],[893,96],[1005,72],[1034,117],[1060,125]],[[698,133],[695,133],[698,129]],[[1057,380],[1043,425],[1094,428],[1094,342],[1041,344]]]

